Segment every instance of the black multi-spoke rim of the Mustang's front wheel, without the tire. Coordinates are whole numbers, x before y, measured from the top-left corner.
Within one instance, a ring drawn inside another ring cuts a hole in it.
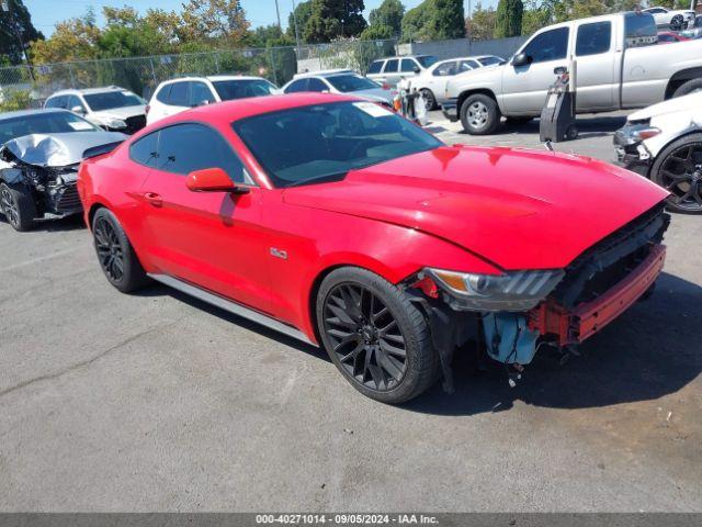
[[[407,370],[407,345],[387,305],[360,283],[340,283],[324,305],[324,329],[350,378],[374,392],[396,388]]]

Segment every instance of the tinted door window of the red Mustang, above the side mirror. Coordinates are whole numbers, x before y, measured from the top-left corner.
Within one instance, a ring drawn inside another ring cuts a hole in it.
[[[222,168],[233,181],[247,181],[244,165],[229,144],[214,130],[202,124],[177,124],[162,128],[157,168],[188,175],[204,168]]]

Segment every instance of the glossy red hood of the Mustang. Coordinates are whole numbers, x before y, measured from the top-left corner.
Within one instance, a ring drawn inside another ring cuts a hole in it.
[[[554,269],[667,193],[595,159],[510,148],[441,147],[287,189],[286,203],[404,225],[503,269]]]

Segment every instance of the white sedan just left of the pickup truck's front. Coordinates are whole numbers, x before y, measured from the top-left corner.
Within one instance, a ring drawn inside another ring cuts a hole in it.
[[[416,77],[404,79],[398,88],[406,90],[418,89],[424,96],[427,109],[437,108],[437,94],[443,97],[449,79],[472,69],[503,64],[505,59],[495,55],[478,55],[474,57],[456,57],[440,60]]]

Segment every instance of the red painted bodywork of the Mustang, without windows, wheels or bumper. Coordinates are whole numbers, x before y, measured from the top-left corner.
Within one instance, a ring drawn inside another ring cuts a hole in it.
[[[275,189],[231,128],[249,115],[344,100],[358,99],[274,96],[159,121],[112,154],[82,164],[86,222],[90,226],[95,206],[109,208],[147,272],[233,299],[317,341],[315,285],[335,267],[362,267],[393,283],[423,267],[478,273],[565,267],[667,195],[597,160],[464,147],[355,170],[340,182]],[[194,193],[184,177],[129,159],[134,141],[189,121],[217,130],[258,187],[240,195]]]

